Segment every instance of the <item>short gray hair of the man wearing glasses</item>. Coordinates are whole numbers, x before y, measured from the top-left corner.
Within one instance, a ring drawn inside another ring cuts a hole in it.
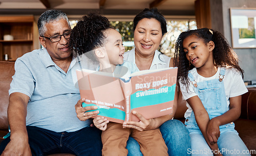
[[[44,13],[42,13],[37,21],[39,35],[40,36],[45,35],[45,33],[47,31],[47,28],[45,27],[46,23],[58,21],[61,18],[67,20],[67,22],[70,26],[68,16],[60,10],[47,10]]]

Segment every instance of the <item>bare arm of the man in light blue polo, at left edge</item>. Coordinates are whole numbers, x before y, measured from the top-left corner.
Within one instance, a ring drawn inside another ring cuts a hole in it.
[[[10,142],[2,155],[32,155],[26,128],[29,96],[14,92],[9,96],[8,122],[11,128]]]

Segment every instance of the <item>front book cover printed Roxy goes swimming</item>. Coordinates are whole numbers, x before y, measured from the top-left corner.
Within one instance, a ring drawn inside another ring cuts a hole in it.
[[[137,111],[146,119],[173,113],[178,68],[133,76],[130,96],[131,112]],[[131,113],[132,121],[139,119]]]

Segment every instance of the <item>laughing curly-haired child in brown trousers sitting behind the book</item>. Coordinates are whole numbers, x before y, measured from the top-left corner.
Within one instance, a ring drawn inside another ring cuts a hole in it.
[[[121,35],[113,28],[106,17],[91,13],[83,16],[72,30],[71,48],[75,55],[85,54],[90,60],[99,63],[97,70],[125,75],[139,71],[136,65],[123,61],[124,47]],[[124,68],[128,72],[121,73]],[[168,155],[167,147],[159,128],[138,131],[123,128],[120,123],[109,122],[104,117],[93,119],[94,125],[102,130],[102,155],[127,155],[126,141],[129,136],[136,139],[144,155]]]

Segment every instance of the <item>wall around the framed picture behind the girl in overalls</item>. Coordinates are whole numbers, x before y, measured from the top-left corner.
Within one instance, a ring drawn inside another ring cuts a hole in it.
[[[212,29],[221,32],[231,41],[229,8],[256,8],[255,0],[210,0]],[[234,49],[236,51],[241,68],[244,70],[244,81],[256,80],[256,48]]]

